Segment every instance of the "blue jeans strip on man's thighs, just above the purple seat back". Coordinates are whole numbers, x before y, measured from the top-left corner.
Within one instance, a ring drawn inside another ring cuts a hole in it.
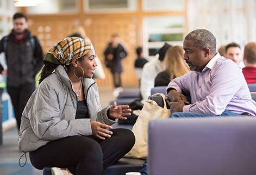
[[[245,115],[237,114],[232,111],[224,110],[221,115],[210,115],[210,114],[202,114],[202,113],[190,113],[190,112],[173,112],[170,115],[170,118],[185,118],[185,117],[214,117],[214,116],[223,116],[223,117],[245,117]]]

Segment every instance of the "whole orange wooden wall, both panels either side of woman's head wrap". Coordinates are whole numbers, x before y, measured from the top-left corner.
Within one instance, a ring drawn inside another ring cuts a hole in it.
[[[79,21],[79,22],[78,22]],[[134,61],[136,59],[135,49],[137,47],[137,21],[136,17],[88,17],[80,22],[77,16],[72,17],[42,17],[29,16],[29,29],[33,34],[38,36],[43,51],[47,51],[74,31],[77,23],[82,23],[86,31],[86,35],[92,40],[95,45],[96,54],[104,62],[104,49],[110,40],[113,33],[117,33],[123,41],[123,45],[127,48],[128,57],[123,59],[122,84],[124,87],[139,87],[139,81],[134,71]],[[106,74],[105,79],[96,79],[98,86],[113,87],[113,79],[107,67],[103,68]]]

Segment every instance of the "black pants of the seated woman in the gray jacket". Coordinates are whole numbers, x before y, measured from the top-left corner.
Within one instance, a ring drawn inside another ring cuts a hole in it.
[[[128,129],[111,129],[112,136],[70,136],[50,141],[29,153],[32,165],[68,168],[73,174],[100,175],[132,149],[135,137]]]

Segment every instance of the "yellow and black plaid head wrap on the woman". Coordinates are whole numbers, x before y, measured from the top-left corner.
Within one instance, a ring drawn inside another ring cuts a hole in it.
[[[43,58],[43,63],[70,65],[72,60],[78,59],[86,55],[92,49],[92,44],[80,37],[66,37],[63,41],[57,43],[49,49],[48,53]]]

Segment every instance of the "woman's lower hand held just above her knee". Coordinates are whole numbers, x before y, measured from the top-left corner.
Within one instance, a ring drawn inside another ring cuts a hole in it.
[[[101,122],[91,122],[91,130],[92,130],[92,135],[95,135],[99,139],[105,140],[105,137],[111,137],[111,132],[110,130],[107,129],[112,129],[113,127],[103,124]]]

